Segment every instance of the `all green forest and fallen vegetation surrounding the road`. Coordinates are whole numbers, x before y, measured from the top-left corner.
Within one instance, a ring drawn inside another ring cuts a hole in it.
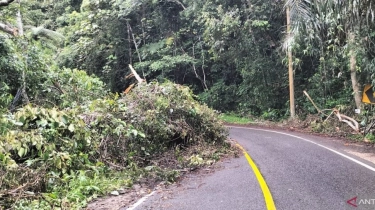
[[[365,126],[373,7],[371,0],[0,0],[0,206],[81,208],[112,189],[108,174],[118,185],[141,173],[173,180],[177,169],[150,163],[169,149],[183,156],[175,145],[215,145],[206,156],[181,158],[190,166],[228,150],[218,113],[324,120],[328,109]]]

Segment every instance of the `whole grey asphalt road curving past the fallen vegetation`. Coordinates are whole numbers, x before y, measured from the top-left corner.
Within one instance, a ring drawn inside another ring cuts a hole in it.
[[[361,153],[356,145],[249,128],[231,128],[230,137],[255,162],[276,209],[375,209],[375,164],[353,155]],[[260,210],[267,209],[263,193],[241,156],[215,172],[189,175],[130,209]]]

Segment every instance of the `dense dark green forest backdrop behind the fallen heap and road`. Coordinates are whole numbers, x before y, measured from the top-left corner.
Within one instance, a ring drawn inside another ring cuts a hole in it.
[[[299,116],[315,112],[303,90],[320,107],[351,109],[353,91],[358,92],[352,82],[357,81],[359,90],[362,84],[372,83],[374,24],[367,3],[34,0],[9,4],[0,8],[0,20],[15,28],[20,5],[25,35],[0,37],[1,106],[9,106],[23,85],[31,100],[38,100],[39,85],[50,80],[45,72],[63,67],[95,74],[109,90],[122,92],[133,83],[125,77],[132,64],[149,81],[168,79],[190,86],[201,101],[217,110],[279,119],[288,116],[287,59],[282,47],[286,45],[293,48]],[[292,9],[293,39],[285,36],[285,4]],[[367,15],[358,15],[361,12]],[[351,55],[357,61],[354,67]],[[352,79],[353,68],[356,79]]]

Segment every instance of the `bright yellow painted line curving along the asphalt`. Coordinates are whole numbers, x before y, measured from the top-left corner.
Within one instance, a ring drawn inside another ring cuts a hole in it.
[[[275,203],[273,202],[270,189],[268,188],[267,183],[264,180],[262,174],[260,173],[258,167],[255,165],[254,161],[251,159],[250,155],[246,152],[246,150],[239,144],[237,144],[237,146],[242,150],[243,154],[245,155],[247,159],[247,162],[249,162],[250,167],[254,171],[254,174],[259,182],[260,188],[262,189],[264,202],[266,203],[267,210],[276,210],[276,206],[275,206]]]

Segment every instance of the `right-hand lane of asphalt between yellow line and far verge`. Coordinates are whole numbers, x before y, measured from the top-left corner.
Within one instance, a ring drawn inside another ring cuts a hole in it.
[[[277,209],[350,209],[351,198],[375,199],[374,164],[347,154],[342,142],[262,129],[230,134],[258,165]]]

